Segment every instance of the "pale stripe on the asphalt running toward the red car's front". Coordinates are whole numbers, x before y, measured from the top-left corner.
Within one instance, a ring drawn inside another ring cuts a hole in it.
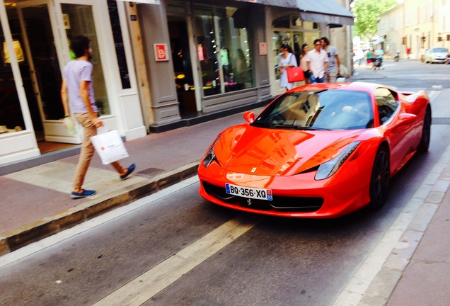
[[[262,217],[255,217],[255,221],[249,222],[243,218],[226,222],[190,246],[179,251],[159,263],[154,268],[146,271],[141,276],[130,281],[115,292],[99,300],[94,306],[135,306],[142,305],[164,288],[171,285],[183,275],[191,271],[203,261],[209,259],[220,249],[231,244],[235,239],[253,228]]]

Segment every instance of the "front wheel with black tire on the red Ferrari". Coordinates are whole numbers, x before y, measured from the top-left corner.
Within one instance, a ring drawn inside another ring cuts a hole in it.
[[[376,152],[374,167],[370,179],[370,203],[369,208],[379,210],[388,198],[389,180],[389,153],[386,147],[381,146]]]

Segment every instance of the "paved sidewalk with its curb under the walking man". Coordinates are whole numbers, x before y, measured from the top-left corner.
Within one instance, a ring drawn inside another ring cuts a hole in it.
[[[125,181],[94,154],[83,187],[97,194],[89,198],[69,198],[79,155],[0,176],[0,256],[194,176],[214,137],[243,122],[238,113],[126,142],[121,162],[137,169]]]

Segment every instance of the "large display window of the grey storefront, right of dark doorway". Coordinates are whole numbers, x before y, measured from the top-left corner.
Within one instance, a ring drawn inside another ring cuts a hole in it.
[[[252,88],[246,9],[195,5],[194,12],[204,96]]]

